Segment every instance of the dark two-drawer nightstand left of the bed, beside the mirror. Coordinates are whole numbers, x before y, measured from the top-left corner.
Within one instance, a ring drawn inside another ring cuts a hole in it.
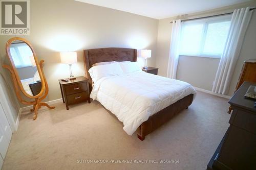
[[[66,104],[67,110],[69,110],[69,105],[72,104],[86,101],[91,103],[89,82],[87,78],[80,76],[75,80],[69,80],[68,82],[59,80],[59,86],[62,95],[62,101]]]

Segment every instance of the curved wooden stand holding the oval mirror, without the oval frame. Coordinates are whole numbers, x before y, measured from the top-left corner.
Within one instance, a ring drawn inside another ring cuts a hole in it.
[[[49,106],[47,103],[45,102],[41,102],[42,100],[44,100],[49,92],[49,88],[48,88],[48,84],[47,84],[47,81],[46,81],[46,78],[45,78],[45,74],[44,74],[44,71],[42,70],[42,64],[44,63],[44,60],[41,60],[39,62],[39,67],[41,69],[41,73],[42,73],[42,82],[44,82],[45,84],[45,91],[44,91],[44,94],[42,93],[41,96],[39,96],[38,98],[34,98],[35,101],[31,101],[31,102],[28,102],[26,100],[23,100],[22,96],[20,95],[20,91],[21,89],[19,88],[18,86],[18,83],[17,83],[17,77],[16,77],[16,74],[13,70],[12,67],[10,67],[9,65],[3,65],[4,68],[7,68],[10,73],[11,73],[11,77],[12,77],[12,80],[13,80],[13,83],[14,83],[14,89],[15,89],[15,92],[16,92],[16,95],[17,95],[17,98],[18,100],[20,101],[20,103],[23,103],[25,105],[33,105],[33,109],[31,109],[30,111],[34,111],[34,116],[33,116],[33,119],[35,120],[37,118],[37,112],[38,112],[38,109],[41,108],[41,106],[46,106],[48,107],[49,109],[54,109],[55,107],[51,107]]]

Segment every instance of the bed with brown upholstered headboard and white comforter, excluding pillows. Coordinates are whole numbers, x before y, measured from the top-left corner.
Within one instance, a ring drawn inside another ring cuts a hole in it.
[[[93,64],[112,61],[120,62],[121,66],[125,65],[123,61],[134,64],[137,61],[137,50],[84,50],[84,68],[89,79],[90,97],[115,114],[123,122],[123,129],[127,134],[132,135],[137,131],[138,138],[144,140],[146,135],[187,109],[193,102],[196,90],[190,84],[142,70],[106,76],[93,82],[90,76]],[[109,64],[109,69],[114,65],[117,64]]]

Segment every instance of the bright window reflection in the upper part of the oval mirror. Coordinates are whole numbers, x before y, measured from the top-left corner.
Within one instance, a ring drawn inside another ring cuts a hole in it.
[[[33,53],[26,43],[11,44],[10,53],[16,68],[32,66],[30,57]]]

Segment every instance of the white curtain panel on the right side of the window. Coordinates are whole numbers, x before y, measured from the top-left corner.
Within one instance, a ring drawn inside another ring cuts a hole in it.
[[[252,15],[251,7],[236,9],[233,12],[231,25],[224,51],[221,56],[212,91],[227,94],[230,81],[236,66],[246,29]]]

